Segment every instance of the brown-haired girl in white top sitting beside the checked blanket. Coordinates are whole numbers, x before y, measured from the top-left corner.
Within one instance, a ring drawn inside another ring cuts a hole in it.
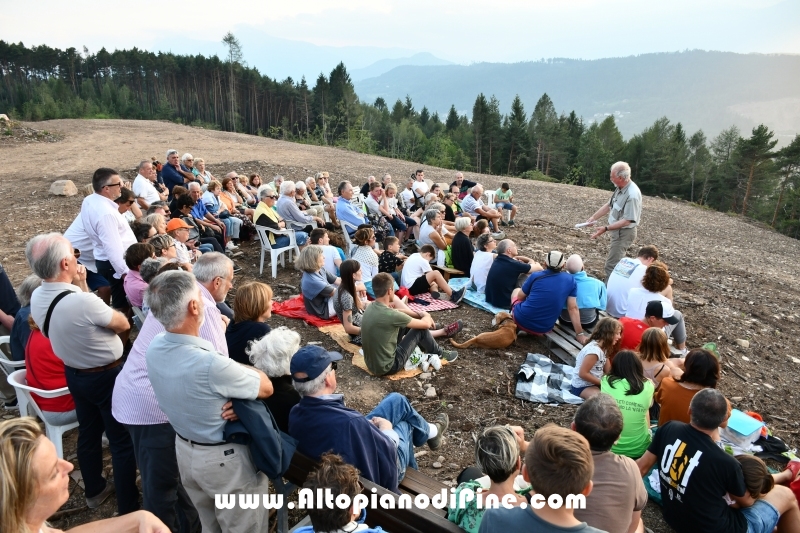
[[[600,380],[611,368],[609,357],[619,348],[622,325],[616,318],[601,318],[589,342],[575,357],[570,392],[584,400],[600,392]]]

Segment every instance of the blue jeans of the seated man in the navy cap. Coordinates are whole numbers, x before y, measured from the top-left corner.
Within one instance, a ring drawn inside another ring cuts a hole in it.
[[[381,400],[367,415],[367,419],[374,416],[391,422],[392,429],[400,437],[400,444],[397,445],[397,480],[400,481],[406,475],[406,468],[417,469],[414,448],[428,442],[430,424],[411,407],[405,396],[397,392],[392,392]]]

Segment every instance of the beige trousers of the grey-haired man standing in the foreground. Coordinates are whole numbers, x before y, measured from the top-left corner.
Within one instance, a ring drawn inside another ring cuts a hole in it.
[[[269,479],[257,472],[250,449],[242,444],[200,446],[175,437],[175,455],[181,482],[192,500],[203,533],[267,531],[269,510],[260,501],[269,491]],[[215,494],[258,494],[256,509],[217,509]]]

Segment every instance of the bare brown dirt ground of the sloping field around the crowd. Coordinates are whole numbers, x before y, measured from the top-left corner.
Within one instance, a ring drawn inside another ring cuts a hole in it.
[[[47,135],[29,135],[20,142],[0,142],[0,190],[7,209],[0,213],[5,238],[0,243],[0,261],[12,281],[19,283],[28,273],[24,258],[25,242],[47,231],[64,231],[80,209],[82,196],[62,198],[47,193],[56,179],[72,179],[78,188],[90,181],[100,166],[120,170],[133,177],[131,169],[143,158],[157,156],[175,148],[206,160],[216,176],[230,170],[257,171],[270,178],[282,174],[298,180],[319,170],[331,173],[331,182],[349,179],[360,185],[366,176],[389,172],[395,181],[403,180],[420,167],[415,163],[367,156],[333,148],[231,134],[171,123],[117,120],[56,120],[23,126]],[[425,175],[437,182],[452,181],[454,172],[425,168]],[[487,188],[508,181],[520,207],[518,226],[507,233],[520,253],[542,259],[549,250],[579,253],[591,275],[602,277],[608,241],[589,239],[590,232],[576,230],[574,224],[586,220],[604,201],[605,191],[568,185],[524,181],[515,178],[466,173],[470,180]],[[797,258],[800,242],[744,219],[705,210],[682,202],[645,198],[643,223],[638,244],[655,244],[669,265],[675,280],[676,308],[683,311],[689,334],[689,347],[716,342],[723,361],[722,392],[742,410],[761,413],[776,436],[790,448],[800,442],[798,412],[798,370],[800,353],[794,346],[800,333],[800,293]],[[236,283],[262,279],[270,283],[268,270],[258,276],[259,248],[256,243],[242,246],[238,259],[243,271]],[[297,286],[299,274],[281,269],[277,282]],[[293,291],[277,288],[276,298]],[[232,299],[233,294],[230,295]],[[490,328],[491,316],[464,305],[454,311],[436,313],[437,322],[462,319],[466,328],[459,339]],[[315,328],[291,319],[273,316],[274,325],[296,328],[304,341],[320,341],[328,349],[338,346]],[[749,341],[743,348],[736,339]],[[522,402],[513,396],[514,375],[528,352],[548,354],[538,340],[520,337],[507,350],[463,350],[459,360],[434,376],[437,398],[425,398],[422,382],[375,379],[361,370],[344,365],[339,370],[339,386],[351,407],[367,412],[391,391],[405,394],[414,406],[433,418],[446,410],[451,426],[441,451],[420,457],[426,474],[452,483],[458,472],[473,462],[473,436],[493,424],[519,424],[531,435],[537,428],[554,422],[568,425],[572,406],[551,407]],[[13,413],[2,412],[4,417]],[[67,435],[65,454],[75,461],[75,431]],[[442,468],[432,463],[444,459]],[[110,466],[109,466],[110,468]],[[83,505],[82,490],[76,488],[56,525],[62,528],[110,516],[113,498],[91,512]],[[669,531],[652,503],[645,510],[645,524],[654,531]]]

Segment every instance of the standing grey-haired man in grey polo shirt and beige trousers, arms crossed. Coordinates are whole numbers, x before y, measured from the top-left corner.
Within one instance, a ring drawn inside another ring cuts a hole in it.
[[[158,406],[175,429],[181,482],[192,499],[203,531],[262,531],[264,506],[216,509],[215,494],[266,494],[269,480],[256,471],[250,450],[223,441],[230,399],[267,398],[273,392],[266,374],[245,367],[200,338],[204,304],[194,276],[165,272],[147,289],[150,313],[166,333],[147,349],[147,374]]]

